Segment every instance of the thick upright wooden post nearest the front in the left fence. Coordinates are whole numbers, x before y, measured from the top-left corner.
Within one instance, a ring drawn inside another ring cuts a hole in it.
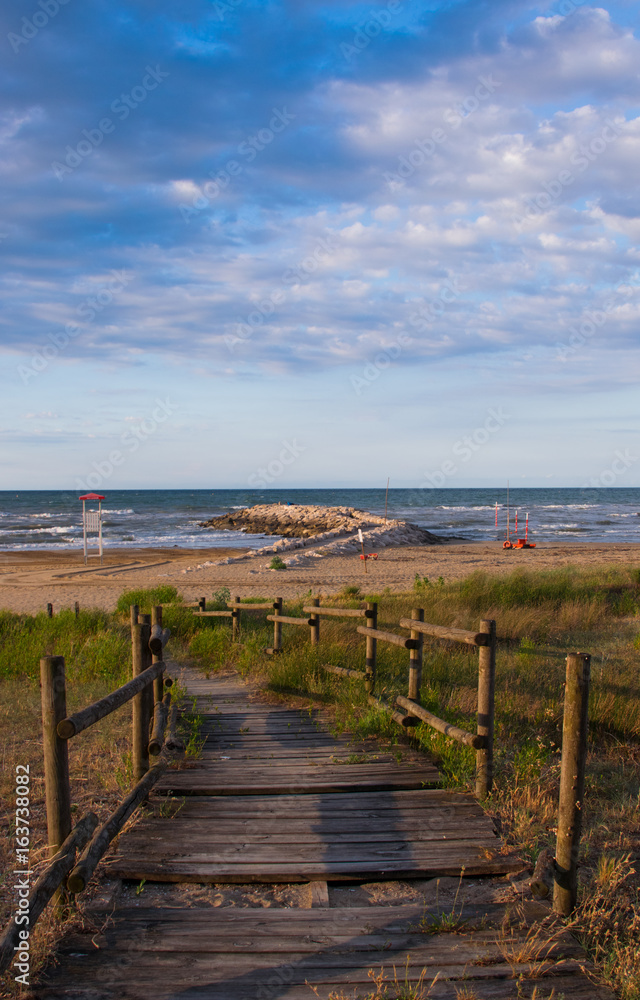
[[[67,717],[64,656],[40,660],[40,686],[47,838],[52,858],[71,833],[68,744],[57,733],[58,723]]]

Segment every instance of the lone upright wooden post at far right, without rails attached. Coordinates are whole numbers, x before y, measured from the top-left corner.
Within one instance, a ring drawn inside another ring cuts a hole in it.
[[[577,863],[584,804],[584,772],[587,758],[589,680],[591,657],[586,653],[567,656],[562,725],[562,765],[556,838],[553,909],[567,917],[576,905]]]

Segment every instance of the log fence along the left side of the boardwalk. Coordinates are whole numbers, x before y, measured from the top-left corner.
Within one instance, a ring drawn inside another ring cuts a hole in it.
[[[64,657],[45,656],[40,661],[45,801],[51,861],[29,895],[30,929],[51,899],[55,897],[59,905],[64,905],[67,893],[82,892],[113,838],[146,800],[150,789],[168,767],[171,753],[184,749],[175,734],[177,706],[171,706],[171,692],[164,693],[165,685],[167,689],[172,685],[170,678],[164,678],[166,664],[162,659],[168,639],[169,630],[162,627],[162,607],[154,608],[151,615],[140,615],[138,607],[132,605],[131,680],[73,715],[67,715]],[[132,759],[136,784],[101,826],[97,816],[88,813],[72,829],[68,741],[128,701],[132,702]],[[157,758],[153,767],[150,767],[150,755]],[[82,854],[77,858],[79,851]],[[65,880],[66,891],[63,888]],[[20,925],[12,919],[0,939],[0,972],[15,956],[19,929]]]

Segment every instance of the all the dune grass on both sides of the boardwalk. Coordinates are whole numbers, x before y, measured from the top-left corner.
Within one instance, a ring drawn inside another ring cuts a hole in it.
[[[274,581],[274,588],[277,581]],[[255,603],[273,595],[253,598]],[[302,606],[311,593],[287,601],[285,615],[306,617]],[[315,596],[315,595],[314,595]],[[226,593],[212,595],[223,606]],[[640,997],[637,940],[640,857],[637,815],[640,805],[640,577],[634,567],[586,571],[564,568],[545,573],[515,572],[504,577],[473,574],[445,584],[417,578],[408,594],[363,594],[349,587],[321,603],[359,607],[379,605],[378,625],[399,631],[400,617],[424,609],[425,620],[477,628],[495,618],[499,636],[496,678],[496,782],[485,803],[505,841],[528,863],[554,846],[562,694],[565,657],[581,650],[592,655],[586,809],[581,848],[581,896],[575,932],[602,974],[623,1000]],[[321,669],[335,663],[362,669],[364,637],[357,621],[323,618],[318,648],[306,628],[283,626],[281,655],[268,658],[272,645],[268,611],[242,615],[241,642],[231,642],[227,619],[198,619],[173,588],[130,591],[113,614],[99,611],[25,616],[0,613],[0,752],[5,777],[0,786],[10,801],[15,763],[31,762],[42,774],[39,659],[50,653],[67,661],[69,709],[89,704],[121,684],[130,671],[129,605],[149,611],[158,602],[172,631],[171,655],[196,663],[209,675],[235,666],[283,699],[304,699],[329,707],[336,730],[375,734],[402,743],[408,737],[388,713],[371,707],[358,681]],[[376,693],[392,701],[406,694],[408,654],[378,644]],[[477,651],[453,643],[425,640],[422,703],[463,728],[474,728]],[[437,760],[446,784],[472,787],[474,754],[426,726],[413,731],[416,745]],[[126,707],[73,741],[72,796],[77,815],[91,807],[108,812],[130,787],[129,713]],[[42,778],[33,786],[42,802]],[[34,820],[36,863],[44,857],[44,811]],[[6,827],[11,834],[11,827]],[[7,843],[9,838],[5,838]],[[6,860],[6,859],[3,859]],[[4,870],[8,870],[6,865]],[[4,894],[6,896],[6,893]],[[6,903],[6,905],[5,905]],[[3,902],[0,919],[8,913]],[[45,947],[45,923],[41,940]]]

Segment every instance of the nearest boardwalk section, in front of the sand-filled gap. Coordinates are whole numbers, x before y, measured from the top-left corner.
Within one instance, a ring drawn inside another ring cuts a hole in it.
[[[320,882],[322,884],[322,880]],[[317,890],[324,897],[324,889]],[[420,921],[443,908],[428,906],[330,909],[212,909],[126,907],[109,914],[103,932],[72,931],[61,962],[43,983],[48,1000],[72,995],[101,1000],[243,1000],[247,996],[302,1000],[309,985],[322,1000],[330,993],[371,992],[369,970],[399,970],[404,984],[417,983],[423,969],[431,997],[451,1000],[466,991],[477,1000],[531,1000],[564,994],[566,1000],[613,1000],[593,976],[566,933],[544,940],[526,958],[527,934],[548,913],[525,904],[511,930],[509,907],[463,905],[465,932],[424,934]],[[105,911],[105,915],[106,911]],[[125,961],[123,961],[125,957]],[[44,977],[41,977],[44,978]],[[459,987],[458,985],[459,984]],[[342,987],[342,989],[340,989]],[[391,990],[390,995],[393,994]]]

